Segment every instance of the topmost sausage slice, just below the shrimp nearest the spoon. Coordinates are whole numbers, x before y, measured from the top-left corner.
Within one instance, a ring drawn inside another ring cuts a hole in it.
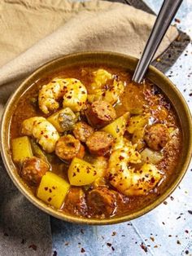
[[[85,115],[91,126],[101,128],[116,119],[116,110],[106,101],[94,101]]]

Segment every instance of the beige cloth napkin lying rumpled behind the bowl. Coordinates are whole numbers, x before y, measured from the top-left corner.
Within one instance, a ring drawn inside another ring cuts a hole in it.
[[[155,22],[155,16],[144,11],[96,0],[4,0],[0,10],[0,113],[20,80],[55,57],[89,50],[139,57]],[[171,27],[157,55],[177,35]]]

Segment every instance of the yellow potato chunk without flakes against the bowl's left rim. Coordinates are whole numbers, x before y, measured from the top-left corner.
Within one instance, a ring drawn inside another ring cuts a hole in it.
[[[26,158],[33,157],[30,140],[28,136],[12,139],[13,161],[23,162]]]

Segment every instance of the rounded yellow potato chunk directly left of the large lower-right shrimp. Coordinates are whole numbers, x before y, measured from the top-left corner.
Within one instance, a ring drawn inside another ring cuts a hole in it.
[[[84,186],[93,183],[97,179],[99,173],[88,162],[79,158],[73,158],[68,168],[68,179],[71,185]]]

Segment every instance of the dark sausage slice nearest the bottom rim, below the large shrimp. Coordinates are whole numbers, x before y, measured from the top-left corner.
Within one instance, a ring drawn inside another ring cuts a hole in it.
[[[88,193],[87,204],[94,214],[109,217],[116,212],[116,194],[108,188],[93,189]]]

